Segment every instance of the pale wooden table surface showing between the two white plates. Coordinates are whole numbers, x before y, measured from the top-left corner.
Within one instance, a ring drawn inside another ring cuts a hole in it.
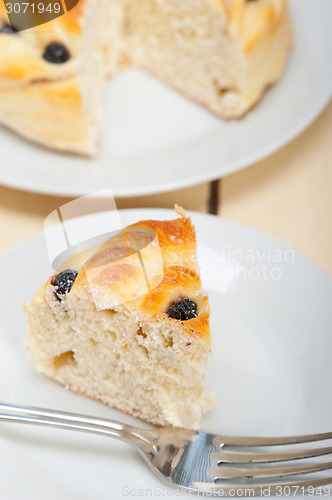
[[[69,198],[0,186],[0,252],[43,229]],[[118,208],[216,211],[297,248],[332,274],[332,103],[301,136],[269,158],[212,184],[117,200]]]

